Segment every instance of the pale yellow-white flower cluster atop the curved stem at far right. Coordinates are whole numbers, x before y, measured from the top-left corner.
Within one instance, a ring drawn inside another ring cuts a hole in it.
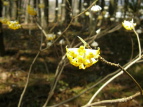
[[[133,19],[131,21],[124,20],[124,22],[122,22],[122,25],[126,30],[132,30],[134,26],[136,26],[136,23],[133,23]]]

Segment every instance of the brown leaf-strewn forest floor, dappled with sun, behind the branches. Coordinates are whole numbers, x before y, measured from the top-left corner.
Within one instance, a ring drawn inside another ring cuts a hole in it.
[[[29,67],[39,50],[40,35],[41,32],[36,28],[31,30],[4,29],[6,55],[0,57],[0,107],[17,106],[26,83]],[[135,40],[135,37],[132,37],[132,39]],[[141,41],[143,41],[143,38],[141,38]],[[101,56],[121,65],[126,64],[131,59],[132,46],[134,46],[133,50],[137,51],[135,47],[136,42],[132,45],[130,36],[123,35],[120,32],[108,34],[98,39],[97,42],[101,49]],[[50,84],[54,79],[58,62],[63,54],[60,52],[61,50],[64,53],[65,46],[56,44],[41,52],[32,68],[29,86],[24,95],[22,107],[41,107],[44,104],[50,90]],[[136,52],[133,53],[133,57],[135,55]],[[50,102],[51,105],[79,94],[82,90],[116,70],[117,68],[100,61],[86,70],[78,70],[78,68],[67,64],[58,81],[57,88]],[[128,71],[143,87],[143,63],[132,66]],[[80,107],[86,104],[103,83],[60,107]],[[139,90],[133,81],[123,74],[105,87],[95,101],[128,97],[137,91]],[[142,104],[141,96],[139,96],[129,102],[106,106],[143,107]]]

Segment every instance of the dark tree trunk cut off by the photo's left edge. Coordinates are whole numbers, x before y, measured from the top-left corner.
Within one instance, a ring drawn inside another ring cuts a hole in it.
[[[2,1],[0,0],[0,17],[2,17]],[[3,40],[3,32],[2,32],[2,23],[0,23],[0,56],[4,56],[5,47]]]

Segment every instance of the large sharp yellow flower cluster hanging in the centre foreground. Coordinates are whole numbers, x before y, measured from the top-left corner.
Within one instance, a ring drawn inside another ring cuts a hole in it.
[[[100,48],[85,49],[85,46],[80,46],[79,48],[66,48],[66,55],[70,63],[79,69],[86,69],[92,66],[98,61],[100,56]]]

